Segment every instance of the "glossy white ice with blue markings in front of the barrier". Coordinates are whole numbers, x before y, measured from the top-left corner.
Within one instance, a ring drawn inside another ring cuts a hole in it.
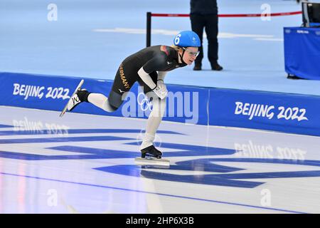
[[[0,213],[319,213],[320,138],[0,107]]]

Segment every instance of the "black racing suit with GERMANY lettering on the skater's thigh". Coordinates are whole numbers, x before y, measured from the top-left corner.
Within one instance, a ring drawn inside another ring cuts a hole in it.
[[[120,64],[114,78],[112,90],[109,93],[109,103],[117,109],[122,105],[122,95],[138,81],[143,86],[144,93],[154,88],[149,88],[140,78],[138,71],[143,67],[149,73],[152,81],[156,84],[158,73],[156,71],[172,71],[175,68],[186,66],[186,63],[178,63],[178,51],[170,46],[150,46],[127,57]]]

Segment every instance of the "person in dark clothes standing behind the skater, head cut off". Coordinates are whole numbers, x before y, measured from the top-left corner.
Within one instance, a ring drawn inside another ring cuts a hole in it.
[[[201,71],[203,59],[203,28],[208,38],[208,59],[213,71],[221,71],[218,64],[218,6],[217,0],[191,0],[191,28],[201,40],[200,54],[196,58],[193,71]]]

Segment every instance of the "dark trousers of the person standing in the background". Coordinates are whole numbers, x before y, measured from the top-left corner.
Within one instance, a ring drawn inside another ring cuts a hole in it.
[[[201,65],[203,59],[203,28],[206,29],[208,38],[208,59],[211,64],[216,63],[218,61],[218,15],[191,14],[190,19],[192,31],[197,33],[201,40],[200,53],[195,61],[196,65]]]

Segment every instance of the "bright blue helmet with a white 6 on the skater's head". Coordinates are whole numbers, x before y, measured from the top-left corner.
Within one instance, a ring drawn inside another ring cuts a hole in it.
[[[200,38],[194,31],[181,31],[174,37],[174,45],[179,47],[200,47]]]

